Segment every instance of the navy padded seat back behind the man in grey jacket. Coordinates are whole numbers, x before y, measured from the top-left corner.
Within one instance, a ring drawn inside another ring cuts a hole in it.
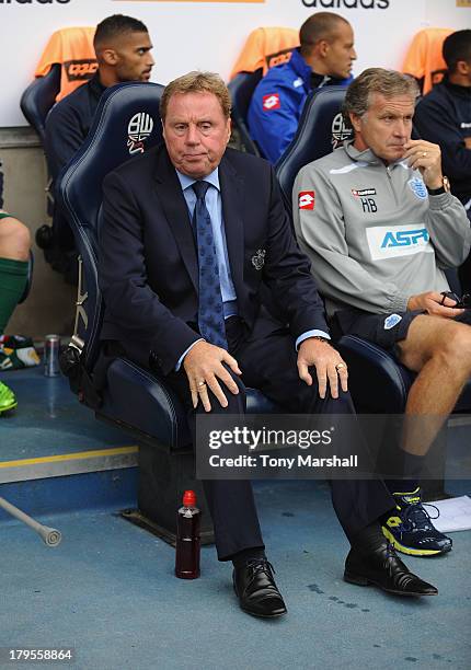
[[[330,153],[352,137],[342,116],[346,86],[313,91],[307,99],[298,130],[275,166],[285,207],[292,212],[292,185],[301,168]]]

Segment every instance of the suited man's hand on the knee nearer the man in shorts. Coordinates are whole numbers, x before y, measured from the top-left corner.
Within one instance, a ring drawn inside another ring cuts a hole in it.
[[[299,346],[298,372],[308,386],[312,384],[309,373],[311,366],[315,367],[319,395],[324,398],[328,391],[328,380],[332,397],[338,397],[338,379],[343,391],[348,391],[348,370],[336,349],[326,342],[309,337]]]

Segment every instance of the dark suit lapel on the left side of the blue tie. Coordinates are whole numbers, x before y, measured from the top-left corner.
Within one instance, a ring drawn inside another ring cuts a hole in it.
[[[188,208],[175,169],[163,149],[157,157],[156,188],[183,263],[198,293],[198,261]]]

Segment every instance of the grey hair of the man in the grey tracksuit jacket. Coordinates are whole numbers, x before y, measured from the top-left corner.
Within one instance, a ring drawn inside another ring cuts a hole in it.
[[[348,86],[343,104],[343,115],[347,128],[352,128],[351,114],[364,116],[371,104],[371,95],[381,93],[384,97],[409,95],[412,101],[418,95],[417,82],[409,74],[382,68],[364,70]]]

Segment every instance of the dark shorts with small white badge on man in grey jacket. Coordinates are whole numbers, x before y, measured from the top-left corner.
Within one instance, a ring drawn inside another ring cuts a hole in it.
[[[356,335],[390,349],[398,356],[397,343],[405,339],[413,320],[424,312],[392,312],[390,314],[370,314],[361,310],[340,310],[334,316],[334,331],[338,335]],[[471,325],[471,310],[466,310],[456,319]]]

